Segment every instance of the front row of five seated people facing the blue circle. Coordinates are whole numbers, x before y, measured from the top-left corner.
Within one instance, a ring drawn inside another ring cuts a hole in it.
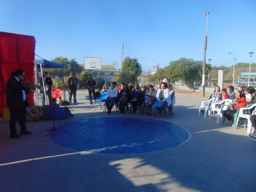
[[[128,111],[128,103],[131,103],[133,114],[142,109],[146,111],[147,115],[151,115],[152,106],[157,101],[162,103],[160,107],[156,107],[159,117],[162,117],[166,113],[165,107],[169,107],[172,101],[175,103],[175,93],[170,83],[168,85],[164,82],[161,83],[158,90],[155,90],[153,85],[143,86],[143,90],[141,90],[138,83],[134,86],[122,83],[119,88],[116,88],[116,84],[116,82],[112,82],[111,87],[107,90],[106,107],[109,114],[114,104],[118,104],[120,113],[123,114],[125,113],[125,108]],[[171,112],[169,115],[171,115]]]

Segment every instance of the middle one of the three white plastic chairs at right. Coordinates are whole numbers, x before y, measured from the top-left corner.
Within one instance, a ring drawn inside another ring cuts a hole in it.
[[[211,113],[213,113],[214,118],[215,112],[217,112],[217,123],[219,123],[220,119],[222,119],[222,112],[227,110],[227,107],[232,103],[232,101],[232,99],[224,99],[221,102],[211,104],[211,107],[209,108],[209,120],[211,118]],[[218,108],[218,106],[220,106],[220,108]]]

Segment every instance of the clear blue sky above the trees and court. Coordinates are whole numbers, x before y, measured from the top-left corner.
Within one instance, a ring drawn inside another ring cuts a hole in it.
[[[138,58],[143,70],[165,67],[181,57],[203,60],[209,11],[206,61],[231,66],[249,63],[255,52],[256,0],[0,0],[0,31],[35,36],[39,56],[63,56],[102,64]],[[139,54],[141,53],[141,54]],[[143,59],[142,59],[143,58]],[[146,60],[145,60],[146,59]],[[150,61],[148,61],[150,60]]]

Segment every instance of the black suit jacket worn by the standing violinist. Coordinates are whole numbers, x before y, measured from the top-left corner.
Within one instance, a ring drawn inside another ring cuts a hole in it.
[[[7,81],[7,107],[24,107],[23,94],[22,90],[25,93],[30,93],[30,88],[21,85],[15,77],[8,79]]]

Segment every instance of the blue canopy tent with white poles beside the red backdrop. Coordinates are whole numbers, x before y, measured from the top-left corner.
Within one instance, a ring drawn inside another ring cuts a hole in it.
[[[39,57],[38,55],[35,54],[35,79],[36,79],[36,85],[38,85],[37,79],[38,79],[38,75],[37,75],[37,69],[40,68],[41,74],[43,74],[43,69],[45,68],[62,68],[62,73],[64,65],[60,64],[60,63],[55,63],[53,61],[48,61],[42,57]],[[64,78],[64,75],[62,75],[62,78]],[[64,79],[62,79],[64,82]],[[45,87],[45,82],[43,81],[43,90],[44,90],[44,96],[46,97],[46,87]],[[65,85],[64,85],[64,89],[65,89]],[[65,98],[65,90],[64,90],[64,98]],[[65,98],[66,100],[66,98]],[[47,99],[46,99],[46,103]],[[38,105],[38,89],[36,89],[36,104]]]

